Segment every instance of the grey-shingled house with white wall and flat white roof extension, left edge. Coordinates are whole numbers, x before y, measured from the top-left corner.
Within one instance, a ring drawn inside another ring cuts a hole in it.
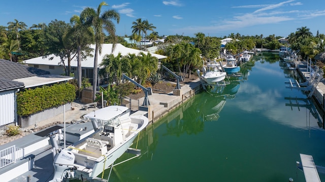
[[[0,128],[18,125],[17,92],[72,79],[4,59],[0,59],[0,65]]]

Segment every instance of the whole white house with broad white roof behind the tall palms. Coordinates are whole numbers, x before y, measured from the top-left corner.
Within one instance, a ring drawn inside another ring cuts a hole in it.
[[[136,54],[138,55],[139,53],[143,52],[145,54],[148,54],[149,52],[146,51],[141,51],[137,49],[132,49],[132,48],[127,48],[121,44],[115,44],[115,49],[112,51],[113,44],[102,44],[102,53],[99,55],[98,58],[98,67],[100,68],[100,64],[102,63],[102,60],[104,59],[105,55],[110,55],[113,54],[114,56],[117,56],[118,53],[121,53],[122,56],[126,56],[128,54]],[[90,48],[93,49],[91,52],[92,55],[94,55],[94,49],[95,45],[91,45]],[[150,53],[152,56],[158,58],[158,60],[167,58],[167,56],[159,55],[159,54],[154,54]],[[37,58],[32,58],[23,61],[25,64],[27,64],[30,67],[36,67],[40,68],[43,70],[50,71],[51,74],[55,75],[60,75],[64,73],[64,68],[61,64],[60,57],[55,56],[54,54],[48,55],[46,58],[43,56],[37,57]],[[85,59],[81,61],[81,67],[82,67],[82,77],[89,78],[89,81],[92,82],[92,75],[93,75],[93,63],[94,63],[94,57],[93,56],[88,56]],[[67,66],[68,65],[68,60],[64,61],[64,64]],[[71,62],[71,69],[72,72],[77,73],[77,56],[74,57]],[[77,77],[77,74],[75,75]],[[101,80],[101,78],[100,78]],[[100,81],[99,80],[99,81]],[[100,85],[104,85],[101,84]]]

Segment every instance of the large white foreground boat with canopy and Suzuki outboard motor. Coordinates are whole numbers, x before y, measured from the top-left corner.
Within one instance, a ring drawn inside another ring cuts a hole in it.
[[[148,118],[143,115],[130,115],[125,106],[107,106],[84,116],[91,121],[95,132],[88,137],[59,149],[52,140],[54,155],[54,177],[51,182],[67,179],[98,179],[98,175],[113,165],[114,161],[129,148],[139,132],[148,125]],[[133,150],[135,157],[139,150]],[[132,153],[132,152],[130,152]]]

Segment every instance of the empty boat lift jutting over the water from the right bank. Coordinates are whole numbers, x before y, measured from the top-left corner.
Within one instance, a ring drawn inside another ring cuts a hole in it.
[[[314,75],[309,77],[310,80],[307,80],[307,82],[302,83],[302,85],[297,80],[295,80],[295,82],[289,80],[289,82],[284,82],[285,84],[289,84],[285,86],[285,88],[290,88],[291,90],[292,89],[303,90],[305,92],[309,91],[307,97],[310,98],[313,95],[318,83],[320,82],[320,80],[324,75],[324,72],[322,70],[320,69],[316,69],[316,70],[317,72],[315,71]],[[301,87],[301,86],[305,86],[305,87]]]

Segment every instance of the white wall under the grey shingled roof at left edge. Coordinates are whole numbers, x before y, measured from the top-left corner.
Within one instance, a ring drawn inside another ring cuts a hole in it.
[[[15,90],[0,92],[0,126],[15,122]]]

